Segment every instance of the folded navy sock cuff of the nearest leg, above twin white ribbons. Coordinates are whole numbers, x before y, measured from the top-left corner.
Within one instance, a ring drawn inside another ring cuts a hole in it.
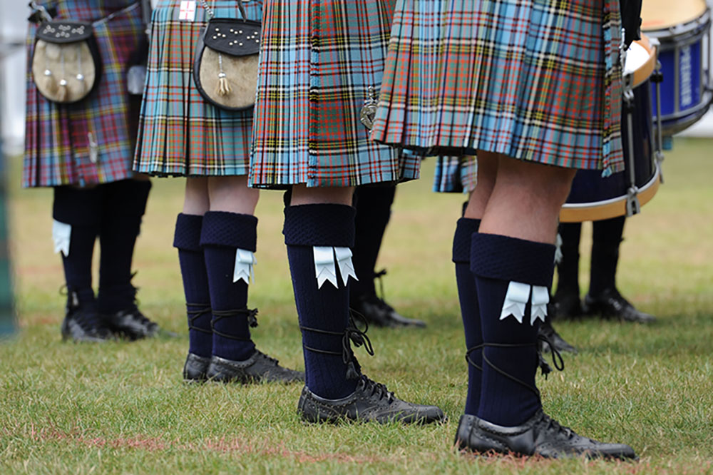
[[[555,246],[516,237],[476,233],[471,240],[471,270],[480,277],[550,287]]]

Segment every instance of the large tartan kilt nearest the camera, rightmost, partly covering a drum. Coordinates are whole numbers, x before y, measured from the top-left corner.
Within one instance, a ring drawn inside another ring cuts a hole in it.
[[[622,170],[618,0],[399,0],[371,137]]]

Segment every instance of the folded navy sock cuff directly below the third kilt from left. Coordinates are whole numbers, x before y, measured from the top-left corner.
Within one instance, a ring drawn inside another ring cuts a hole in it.
[[[284,208],[284,243],[299,246],[354,247],[356,209],[349,205],[298,205]]]

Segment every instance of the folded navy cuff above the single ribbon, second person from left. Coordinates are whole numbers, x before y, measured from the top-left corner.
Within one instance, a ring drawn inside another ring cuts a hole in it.
[[[208,211],[203,216],[200,245],[237,247],[255,252],[257,218],[227,211]]]

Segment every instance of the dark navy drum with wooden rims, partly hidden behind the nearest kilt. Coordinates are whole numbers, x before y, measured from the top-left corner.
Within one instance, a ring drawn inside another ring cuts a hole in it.
[[[579,170],[560,212],[562,223],[635,215],[656,194],[662,159],[651,103],[656,56],[655,42],[650,43],[645,35],[627,51],[622,107],[625,170],[607,178],[602,178],[601,170]]]

